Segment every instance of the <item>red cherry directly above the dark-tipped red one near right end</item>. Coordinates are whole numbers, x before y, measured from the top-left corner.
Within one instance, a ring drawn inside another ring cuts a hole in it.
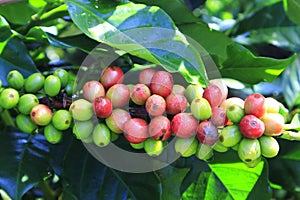
[[[250,94],[244,103],[244,109],[246,114],[255,115],[256,117],[262,117],[265,114],[265,97],[261,94]]]

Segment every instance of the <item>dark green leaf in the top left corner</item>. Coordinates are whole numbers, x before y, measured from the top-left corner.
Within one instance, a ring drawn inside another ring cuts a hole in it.
[[[3,15],[7,21],[18,25],[26,25],[35,13],[36,10],[27,1],[10,3],[0,7],[0,15]]]

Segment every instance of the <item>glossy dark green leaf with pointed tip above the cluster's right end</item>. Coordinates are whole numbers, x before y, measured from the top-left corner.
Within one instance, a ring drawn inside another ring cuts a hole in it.
[[[222,77],[250,84],[274,81],[296,59],[296,55],[280,60],[257,57],[248,49],[235,44],[228,46],[227,55],[228,59],[220,67]]]

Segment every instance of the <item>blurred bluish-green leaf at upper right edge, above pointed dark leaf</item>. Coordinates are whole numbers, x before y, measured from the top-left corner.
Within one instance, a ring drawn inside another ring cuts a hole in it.
[[[300,26],[261,28],[249,33],[247,37],[237,37],[236,42],[244,45],[267,43],[293,52],[300,51]]]

